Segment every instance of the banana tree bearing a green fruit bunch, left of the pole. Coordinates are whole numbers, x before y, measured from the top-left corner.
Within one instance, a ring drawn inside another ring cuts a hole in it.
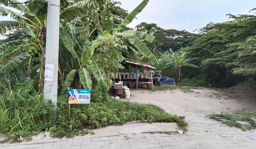
[[[21,28],[28,35],[39,39],[38,52],[33,53],[36,60],[36,69],[39,78],[39,92],[43,90],[44,82],[44,54],[45,54],[45,38],[46,38],[46,19],[47,19],[47,1],[46,0],[27,0],[27,5],[21,4],[17,0],[0,0],[1,3],[6,3],[5,6],[0,6],[0,15],[10,15],[12,20],[0,21],[0,35],[15,28]],[[71,1],[63,0],[61,7],[70,5]],[[72,2],[73,3],[73,2]],[[15,9],[15,10],[14,10]],[[21,13],[18,13],[21,11]],[[62,16],[63,18],[63,16]],[[28,43],[33,42],[31,39],[18,39],[0,45],[0,51],[8,46],[15,48],[11,53],[6,55],[1,60],[0,73],[12,72],[15,68],[21,66],[28,57],[28,77],[30,78],[30,64],[32,61],[31,51]],[[22,52],[21,52],[22,51]],[[7,58],[7,59],[6,59]],[[60,71],[59,71],[60,72]],[[61,74],[61,73],[60,73]],[[60,77],[61,78],[61,77]]]

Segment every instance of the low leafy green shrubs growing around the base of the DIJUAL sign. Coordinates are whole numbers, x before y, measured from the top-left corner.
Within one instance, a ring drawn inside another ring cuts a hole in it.
[[[183,119],[170,115],[161,108],[129,101],[109,99],[108,108],[105,106],[105,95],[102,92],[92,92],[92,102],[88,105],[71,105],[71,117],[68,117],[66,96],[58,98],[57,123],[51,128],[53,137],[74,137],[83,128],[98,128],[107,125],[122,125],[127,121],[148,120],[148,122],[177,122],[185,127]]]

